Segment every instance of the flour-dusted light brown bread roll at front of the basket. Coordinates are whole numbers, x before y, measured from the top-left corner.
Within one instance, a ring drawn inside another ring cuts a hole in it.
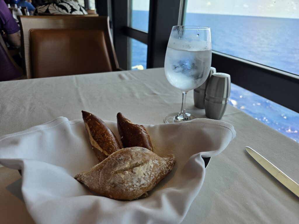
[[[133,200],[146,197],[175,163],[173,154],[162,158],[146,148],[123,148],[74,178],[102,196]]]

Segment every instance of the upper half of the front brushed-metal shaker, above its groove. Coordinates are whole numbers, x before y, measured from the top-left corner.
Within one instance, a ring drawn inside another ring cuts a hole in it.
[[[225,99],[231,93],[231,76],[226,73],[213,73],[206,90],[206,96]]]

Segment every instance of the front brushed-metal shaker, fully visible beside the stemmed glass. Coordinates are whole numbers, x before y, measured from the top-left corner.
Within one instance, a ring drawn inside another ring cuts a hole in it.
[[[231,93],[231,76],[213,73],[208,82],[205,96],[205,113],[210,119],[220,120],[226,110]]]

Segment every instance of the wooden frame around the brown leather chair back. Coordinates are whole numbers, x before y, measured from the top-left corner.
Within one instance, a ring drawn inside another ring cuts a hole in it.
[[[30,30],[36,29],[66,29],[66,30],[103,30],[112,70],[119,69],[116,53],[109,28],[107,16],[18,16],[21,28],[21,54],[23,69],[28,79],[32,77],[30,56]]]

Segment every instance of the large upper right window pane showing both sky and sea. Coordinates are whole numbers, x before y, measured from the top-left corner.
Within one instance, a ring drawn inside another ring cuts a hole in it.
[[[299,0],[187,0],[185,25],[211,27],[212,49],[299,75]]]

